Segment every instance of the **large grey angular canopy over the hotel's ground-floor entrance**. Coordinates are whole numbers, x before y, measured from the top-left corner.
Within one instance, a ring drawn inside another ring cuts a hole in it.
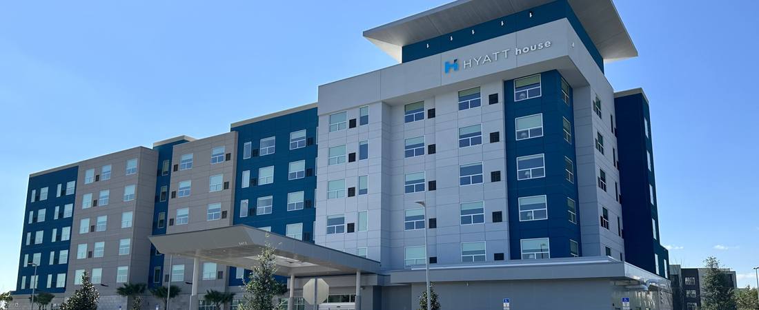
[[[268,243],[275,248],[281,276],[379,273],[379,261],[245,225],[150,236],[150,242],[163,254],[246,269],[258,265],[256,257]]]

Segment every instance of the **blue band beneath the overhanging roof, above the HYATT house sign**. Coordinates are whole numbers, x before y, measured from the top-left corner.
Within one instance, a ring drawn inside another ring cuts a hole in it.
[[[530,14],[532,13],[532,17]],[[591,57],[596,62],[598,68],[603,72],[603,57],[587,35],[582,23],[572,11],[572,7],[566,0],[558,0],[546,3],[535,8],[520,11],[515,14],[499,17],[484,23],[479,23],[466,29],[457,30],[452,33],[446,33],[442,36],[436,36],[414,44],[402,47],[402,62],[415,61],[442,52],[448,52],[463,46],[471,45],[477,42],[483,42],[509,33],[515,33],[531,27],[550,23],[554,20],[566,18],[575,29],[580,40],[591,53]],[[474,31],[474,33],[473,33]]]

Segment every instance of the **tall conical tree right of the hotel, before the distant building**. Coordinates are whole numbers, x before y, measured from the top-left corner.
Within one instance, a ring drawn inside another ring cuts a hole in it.
[[[735,310],[732,285],[728,275],[721,271],[720,261],[713,256],[704,260],[704,282],[701,283],[701,309]]]

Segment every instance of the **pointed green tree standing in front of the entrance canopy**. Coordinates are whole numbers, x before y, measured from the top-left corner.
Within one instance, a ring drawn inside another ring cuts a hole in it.
[[[268,233],[266,238],[269,238]],[[274,247],[266,241],[261,254],[257,256],[259,265],[253,268],[250,279],[241,287],[245,290],[245,303],[240,305],[240,310],[279,310],[281,304],[274,302],[274,297],[283,295],[287,288],[274,278],[279,270],[276,259]]]

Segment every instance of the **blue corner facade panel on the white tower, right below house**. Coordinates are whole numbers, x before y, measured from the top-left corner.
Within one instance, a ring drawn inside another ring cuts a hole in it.
[[[550,257],[572,257],[570,240],[581,248],[578,208],[578,189],[569,181],[565,172],[565,158],[574,167],[574,134],[572,143],[565,140],[563,119],[574,120],[572,110],[572,89],[569,89],[569,104],[562,99],[562,77],[556,70],[540,74],[541,96],[515,102],[514,81],[505,81],[505,146],[506,171],[509,190],[509,239],[511,259],[521,259],[522,239],[549,238]],[[543,136],[517,140],[516,118],[542,114]],[[518,180],[517,158],[543,154],[545,177]],[[546,196],[547,219],[520,221],[519,197]],[[575,202],[575,222],[570,221],[568,201]],[[581,255],[581,249],[578,249]]]

